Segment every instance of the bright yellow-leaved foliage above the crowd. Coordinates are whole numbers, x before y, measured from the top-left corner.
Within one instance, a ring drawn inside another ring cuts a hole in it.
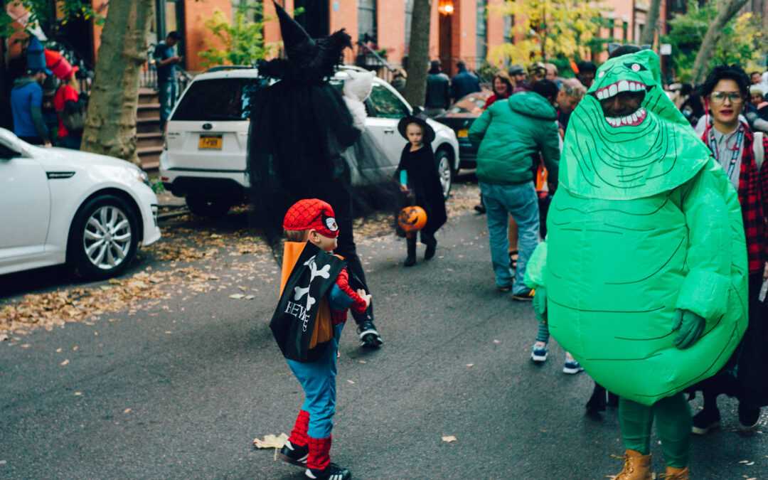
[[[612,41],[597,35],[613,25],[607,12],[603,0],[506,0],[492,7],[489,15],[514,15],[513,35],[522,34],[523,39],[492,48],[488,57],[522,65],[558,57],[585,58],[590,50],[604,50],[604,44]]]

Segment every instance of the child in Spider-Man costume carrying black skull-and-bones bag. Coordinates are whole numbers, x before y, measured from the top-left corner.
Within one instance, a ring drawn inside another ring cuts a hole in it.
[[[349,470],[331,463],[329,456],[336,405],[336,352],[347,310],[365,312],[371,296],[362,289],[354,291],[343,260],[327,253],[336,248],[339,235],[329,204],[316,198],[299,200],[286,213],[283,230],[286,243],[280,303],[270,328],[306,400],[280,458],[306,467],[307,478],[346,480],[351,478]],[[322,331],[324,322],[327,336]],[[301,328],[298,335],[281,334],[286,330],[280,327],[291,324],[303,326],[306,334],[301,334]],[[313,343],[310,337],[316,337],[311,338]]]

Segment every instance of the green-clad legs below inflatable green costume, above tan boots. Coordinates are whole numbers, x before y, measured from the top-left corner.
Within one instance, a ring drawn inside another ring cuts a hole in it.
[[[660,399],[650,407],[620,398],[619,423],[624,447],[648,455],[650,427],[654,417],[664,451],[664,462],[670,467],[687,466],[690,454],[690,406],[682,393]]]

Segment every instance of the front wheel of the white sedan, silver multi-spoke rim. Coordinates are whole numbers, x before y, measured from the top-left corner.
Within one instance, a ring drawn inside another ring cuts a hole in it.
[[[137,214],[125,200],[114,195],[94,197],[75,214],[68,258],[82,276],[116,276],[133,260],[140,235]]]

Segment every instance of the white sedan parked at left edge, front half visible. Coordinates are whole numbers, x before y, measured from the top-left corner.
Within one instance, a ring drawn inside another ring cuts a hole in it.
[[[118,158],[35,147],[0,128],[0,274],[70,263],[106,278],[160,238],[157,196]]]

